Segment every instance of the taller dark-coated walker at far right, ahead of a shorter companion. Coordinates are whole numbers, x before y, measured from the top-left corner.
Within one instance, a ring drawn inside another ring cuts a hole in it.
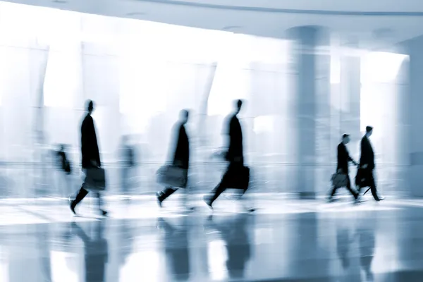
[[[374,181],[374,151],[369,140],[369,137],[372,135],[372,133],[372,126],[367,126],[366,134],[362,137],[361,141],[360,169],[357,171],[356,184],[359,187],[358,192],[360,192],[360,189],[363,187],[370,187],[374,200],[379,202],[384,200],[384,197],[379,197],[376,190],[376,183]]]

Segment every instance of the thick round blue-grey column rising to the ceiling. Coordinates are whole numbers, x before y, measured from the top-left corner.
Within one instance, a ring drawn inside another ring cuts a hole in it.
[[[293,130],[295,138],[295,192],[302,199],[314,199],[317,195],[317,168],[324,161],[322,130],[325,119],[320,118],[324,107],[329,106],[329,69],[330,56],[318,52],[317,46],[329,42],[324,29],[315,26],[294,27],[288,31],[293,39]],[[321,49],[323,50],[323,49]],[[326,52],[327,53],[327,52]],[[328,113],[326,111],[326,113]],[[320,129],[321,128],[321,129]],[[327,126],[326,126],[327,128]],[[328,134],[329,137],[329,134]],[[329,140],[328,140],[329,142]]]

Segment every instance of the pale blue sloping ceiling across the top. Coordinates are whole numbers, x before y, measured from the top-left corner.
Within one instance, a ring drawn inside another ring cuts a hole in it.
[[[282,38],[300,25],[322,25],[381,48],[423,34],[422,0],[9,0],[103,16]]]

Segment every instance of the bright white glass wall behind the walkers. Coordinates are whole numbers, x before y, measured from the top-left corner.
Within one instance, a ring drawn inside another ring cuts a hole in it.
[[[168,159],[172,127],[181,109],[191,113],[192,187],[212,189],[225,165],[212,153],[223,145],[223,121],[232,111],[233,99],[246,101],[240,116],[253,188],[295,192],[290,186],[295,99],[293,73],[288,72],[289,44],[282,39],[1,3],[0,197],[64,197],[78,188],[86,99],[95,102],[93,116],[110,194],[123,192],[124,142],[135,149],[137,161],[128,174],[130,192],[158,189],[155,172]],[[332,149],[326,159],[331,161],[319,163],[327,167],[335,166],[343,110],[348,108],[337,90],[342,84],[337,58],[333,55],[327,101],[331,144],[326,147]],[[366,58],[362,73],[373,66],[365,63]],[[375,130],[379,148],[386,134],[395,135],[378,122],[393,113],[395,103],[385,103],[383,111],[372,111],[370,117],[366,109],[384,99],[380,93],[396,90],[372,79],[362,81],[360,118],[384,128]],[[389,95],[394,101],[395,94]],[[73,164],[70,180],[56,164],[59,144],[67,145]],[[379,152],[394,163],[394,154],[388,152],[396,151],[395,142],[388,146]],[[329,177],[320,192],[329,189]]]

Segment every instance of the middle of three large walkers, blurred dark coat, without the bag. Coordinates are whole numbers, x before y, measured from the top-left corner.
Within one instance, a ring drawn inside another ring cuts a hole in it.
[[[188,117],[189,112],[187,110],[180,111],[180,119],[174,126],[176,134],[173,140],[177,140],[177,142],[172,154],[172,165],[183,168],[185,173],[187,173],[186,177],[188,177],[188,168],[190,166],[190,140],[185,130],[185,124],[188,122]],[[176,190],[178,190],[176,187],[166,187],[164,190],[157,192],[156,195],[159,206],[161,207],[161,203],[176,192]]]

